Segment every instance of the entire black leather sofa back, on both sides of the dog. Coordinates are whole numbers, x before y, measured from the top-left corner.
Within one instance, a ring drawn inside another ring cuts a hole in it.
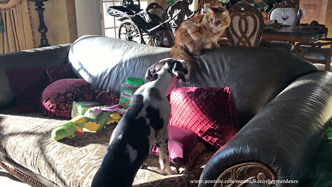
[[[145,78],[149,66],[169,57],[170,48],[147,46],[110,37],[85,35],[69,51],[77,75],[95,90],[120,94],[128,77]],[[317,71],[313,64],[272,48],[223,47],[194,56],[192,87],[230,87],[243,126],[288,84]]]

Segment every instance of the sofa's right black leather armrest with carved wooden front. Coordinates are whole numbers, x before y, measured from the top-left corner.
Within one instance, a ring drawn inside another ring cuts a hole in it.
[[[297,186],[331,121],[331,84],[327,71],[295,80],[214,154],[199,186],[216,179],[294,180],[275,186]]]

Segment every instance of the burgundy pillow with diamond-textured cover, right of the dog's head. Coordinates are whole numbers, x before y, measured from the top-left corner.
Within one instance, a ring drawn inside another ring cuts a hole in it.
[[[176,87],[170,94],[169,125],[191,130],[216,151],[239,131],[234,98],[228,87]]]

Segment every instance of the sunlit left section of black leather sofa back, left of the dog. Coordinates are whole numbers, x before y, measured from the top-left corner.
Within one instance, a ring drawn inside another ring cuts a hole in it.
[[[69,61],[93,89],[120,94],[121,84],[128,77],[145,79],[149,66],[168,57],[168,53],[169,48],[85,35],[73,43]]]

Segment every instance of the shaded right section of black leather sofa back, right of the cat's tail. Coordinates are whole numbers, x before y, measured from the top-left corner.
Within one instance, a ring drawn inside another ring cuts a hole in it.
[[[246,125],[270,100],[316,66],[273,48],[223,47],[195,56],[190,86],[230,87],[240,125]]]

